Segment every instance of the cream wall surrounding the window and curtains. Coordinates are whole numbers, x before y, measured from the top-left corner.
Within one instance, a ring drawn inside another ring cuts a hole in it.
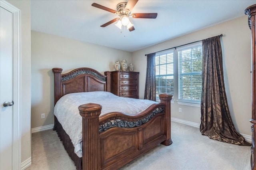
[[[223,34],[221,39],[223,70],[230,114],[236,130],[251,135],[251,34],[248,18],[243,16],[210,28],[205,28],[132,53],[134,68],[140,71],[139,97],[144,97],[146,79],[145,54],[168,49]],[[178,95],[174,94],[175,100]],[[172,104],[172,117],[200,124],[200,107]],[[182,108],[182,113],[178,112]]]

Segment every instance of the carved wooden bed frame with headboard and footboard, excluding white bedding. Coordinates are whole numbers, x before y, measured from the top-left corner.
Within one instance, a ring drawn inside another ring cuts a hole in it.
[[[104,75],[86,67],[65,74],[62,74],[61,68],[53,68],[52,71],[54,105],[62,97],[72,93],[80,95],[83,92],[103,91],[102,94],[110,95],[108,92],[111,91],[111,71],[105,71]],[[60,124],[56,116],[54,130],[74,161],[76,169],[118,169],[160,143],[166,146],[172,144],[172,95],[160,94],[159,98],[160,103],[153,103],[136,115],[122,113],[119,110],[100,115],[103,111],[102,106],[95,101],[79,105],[77,110],[82,117],[81,158],[74,152],[75,147],[63,129],[64,125]]]

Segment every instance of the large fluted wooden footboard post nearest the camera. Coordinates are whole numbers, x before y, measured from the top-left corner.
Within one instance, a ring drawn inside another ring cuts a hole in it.
[[[102,106],[95,103],[87,103],[78,107],[82,116],[83,135],[83,170],[100,169],[100,132],[99,116]]]

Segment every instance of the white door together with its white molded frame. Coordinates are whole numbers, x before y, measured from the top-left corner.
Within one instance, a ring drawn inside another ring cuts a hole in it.
[[[0,170],[20,169],[20,138],[20,10],[0,0]]]

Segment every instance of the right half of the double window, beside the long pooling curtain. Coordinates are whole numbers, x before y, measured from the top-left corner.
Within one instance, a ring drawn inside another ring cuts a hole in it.
[[[200,103],[202,93],[202,43],[178,49],[179,101]]]

